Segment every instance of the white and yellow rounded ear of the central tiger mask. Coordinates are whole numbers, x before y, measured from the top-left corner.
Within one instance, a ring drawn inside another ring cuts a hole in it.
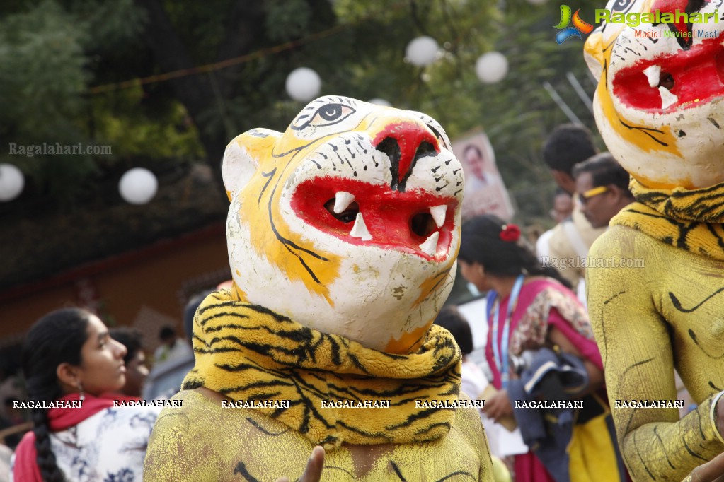
[[[238,135],[227,145],[222,161],[222,177],[227,197],[231,201],[256,173],[264,158],[282,137],[277,131],[251,129]]]

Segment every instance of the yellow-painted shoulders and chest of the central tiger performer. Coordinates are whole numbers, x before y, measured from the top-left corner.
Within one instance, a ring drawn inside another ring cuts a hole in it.
[[[146,482],[275,481],[298,478],[313,444],[249,408],[222,408],[198,390],[174,397],[148,442]],[[394,410],[394,408],[378,410]],[[452,475],[452,477],[450,477]],[[322,481],[492,481],[492,461],[480,416],[455,411],[452,428],[432,442],[343,444],[327,452]]]

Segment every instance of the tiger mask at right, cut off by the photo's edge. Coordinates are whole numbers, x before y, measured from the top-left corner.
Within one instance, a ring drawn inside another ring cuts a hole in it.
[[[724,181],[722,4],[611,0],[611,16],[627,20],[603,22],[586,40],[586,62],[599,78],[598,129],[644,186],[696,189]],[[689,24],[681,16],[678,23],[662,22],[662,14],[676,10],[694,15]],[[644,14],[654,23],[628,25]]]

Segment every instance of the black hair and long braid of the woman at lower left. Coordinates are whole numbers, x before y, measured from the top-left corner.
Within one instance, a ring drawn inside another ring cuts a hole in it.
[[[62,397],[56,369],[61,363],[80,365],[80,350],[88,339],[89,316],[82,309],[60,309],[46,314],[30,328],[22,347],[22,370],[30,400],[50,402]],[[43,481],[64,482],[65,476],[51,448],[46,409],[33,408],[31,417],[36,462]]]

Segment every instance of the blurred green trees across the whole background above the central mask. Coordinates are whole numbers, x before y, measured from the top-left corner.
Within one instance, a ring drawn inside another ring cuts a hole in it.
[[[584,3],[571,7],[592,20],[600,6]],[[385,98],[429,113],[452,138],[483,127],[521,220],[536,220],[553,190],[542,140],[568,121],[543,82],[594,128],[566,79],[572,72],[593,91],[583,42],[555,43],[558,8],[524,0],[10,1],[0,7],[0,142],[111,145],[113,155],[19,158],[3,149],[0,162],[20,165],[33,194],[68,198],[133,165],[201,161],[218,178],[232,137],[286,128],[302,105],[288,98],[285,79],[309,66],[323,79],[322,95]],[[440,45],[429,66],[404,60],[419,35]],[[484,85],[474,65],[492,50],[507,56],[510,71]]]

